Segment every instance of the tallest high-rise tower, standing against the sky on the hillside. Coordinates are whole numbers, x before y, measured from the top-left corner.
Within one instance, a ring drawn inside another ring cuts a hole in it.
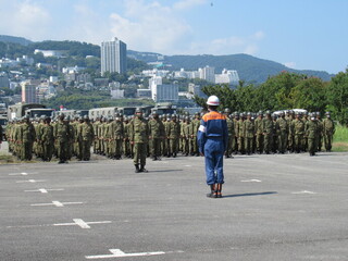
[[[101,42],[101,75],[105,72],[125,73],[127,71],[127,45],[116,37]]]

